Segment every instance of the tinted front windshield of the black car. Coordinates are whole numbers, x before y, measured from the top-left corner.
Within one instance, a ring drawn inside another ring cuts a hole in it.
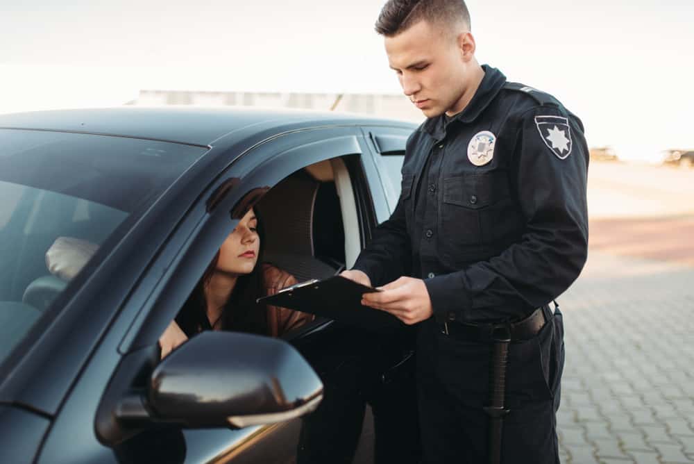
[[[124,235],[119,226],[142,214],[205,151],[0,129],[0,363],[96,249]]]

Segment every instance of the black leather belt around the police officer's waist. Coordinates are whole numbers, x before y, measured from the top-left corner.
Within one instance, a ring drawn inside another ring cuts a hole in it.
[[[549,312],[549,311],[548,311]],[[547,318],[543,308],[537,308],[531,315],[518,322],[507,324],[467,324],[464,322],[444,322],[441,332],[453,338],[477,342],[497,340],[495,331],[500,327],[508,330],[510,340],[527,340],[533,338],[545,326]]]

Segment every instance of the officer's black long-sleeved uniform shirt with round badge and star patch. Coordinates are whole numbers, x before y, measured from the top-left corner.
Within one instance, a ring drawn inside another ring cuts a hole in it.
[[[483,69],[462,112],[409,137],[396,209],[354,266],[374,285],[424,279],[439,322],[524,317],[586,260],[582,123],[554,97]]]

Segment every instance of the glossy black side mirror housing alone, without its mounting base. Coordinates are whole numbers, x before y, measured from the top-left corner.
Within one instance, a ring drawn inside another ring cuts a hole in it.
[[[146,404],[189,427],[272,424],[313,411],[323,383],[287,342],[206,331],[155,367]]]

